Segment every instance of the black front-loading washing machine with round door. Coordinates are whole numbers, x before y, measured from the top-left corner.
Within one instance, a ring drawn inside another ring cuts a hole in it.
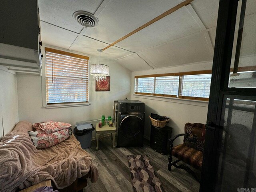
[[[143,146],[145,104],[138,100],[118,100],[116,108],[117,146]]]

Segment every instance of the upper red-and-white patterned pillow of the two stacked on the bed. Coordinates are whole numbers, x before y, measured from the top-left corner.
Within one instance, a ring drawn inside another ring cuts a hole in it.
[[[71,124],[58,121],[46,121],[42,123],[34,123],[33,127],[37,131],[42,131],[46,134],[50,134],[59,130],[71,128]]]

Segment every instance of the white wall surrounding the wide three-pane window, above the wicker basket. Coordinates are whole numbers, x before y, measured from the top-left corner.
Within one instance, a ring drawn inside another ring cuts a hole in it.
[[[172,127],[172,136],[184,133],[184,125],[190,123],[206,123],[208,102],[184,100],[179,98],[164,98],[157,96],[142,96],[134,94],[134,76],[146,74],[164,74],[175,72],[188,72],[198,70],[211,70],[212,62],[201,62],[186,66],[159,68],[156,70],[144,70],[132,72],[131,99],[145,103],[145,130],[144,137],[150,138],[150,113],[170,117],[167,126]],[[177,139],[174,144],[181,144],[183,137]]]

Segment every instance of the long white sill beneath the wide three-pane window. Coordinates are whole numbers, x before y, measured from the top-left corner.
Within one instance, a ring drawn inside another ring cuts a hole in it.
[[[164,101],[164,102],[173,102],[173,103],[208,107],[208,101],[182,99],[182,98],[175,98],[175,97],[153,96],[153,95],[140,95],[140,94],[133,94],[133,95],[135,98],[143,98],[143,99],[158,100],[158,101]]]

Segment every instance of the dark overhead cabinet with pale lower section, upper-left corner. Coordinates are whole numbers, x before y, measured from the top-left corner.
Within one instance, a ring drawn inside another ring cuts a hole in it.
[[[41,75],[38,0],[2,0],[0,18],[0,66]]]

